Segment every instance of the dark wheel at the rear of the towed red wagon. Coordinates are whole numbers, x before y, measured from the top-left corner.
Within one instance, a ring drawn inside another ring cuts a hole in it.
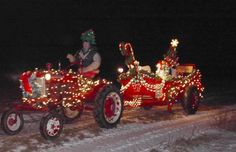
[[[183,109],[186,114],[195,114],[199,108],[200,97],[196,87],[188,88],[184,93],[182,102]]]

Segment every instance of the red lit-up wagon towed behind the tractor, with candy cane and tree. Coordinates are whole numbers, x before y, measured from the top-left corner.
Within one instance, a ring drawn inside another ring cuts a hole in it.
[[[153,73],[150,66],[140,66],[135,60],[130,43],[120,43],[119,49],[128,67],[125,72],[122,68],[118,71],[125,106],[147,110],[167,105],[171,112],[172,105],[180,102],[187,114],[195,114],[203,97],[201,74],[194,64],[178,63],[177,45],[178,40],[172,40],[164,59],[157,62],[157,70]]]

